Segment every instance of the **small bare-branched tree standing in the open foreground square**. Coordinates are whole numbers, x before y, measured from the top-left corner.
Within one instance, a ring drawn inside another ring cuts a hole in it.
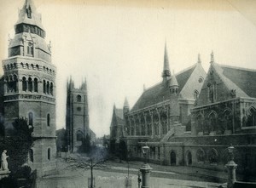
[[[76,158],[70,157],[67,159],[69,166],[67,168],[82,168],[84,170],[90,169],[90,188],[94,185],[94,168],[105,168],[104,162],[108,161],[108,151],[105,148],[94,147],[87,157],[77,155]]]

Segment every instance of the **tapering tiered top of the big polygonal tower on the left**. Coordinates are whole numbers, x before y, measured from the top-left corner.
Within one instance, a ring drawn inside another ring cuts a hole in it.
[[[50,45],[44,41],[41,14],[32,0],[26,0],[15,24],[15,37],[9,40],[9,57],[16,55],[51,61]]]

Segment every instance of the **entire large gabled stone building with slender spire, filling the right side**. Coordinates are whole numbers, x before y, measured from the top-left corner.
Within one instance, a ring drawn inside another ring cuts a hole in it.
[[[218,65],[212,53],[207,75],[199,59],[171,77],[164,62],[163,81],[124,111],[123,131],[112,130],[114,152],[142,158],[147,144],[150,162],[224,169],[234,145],[238,171],[255,173],[256,71]]]

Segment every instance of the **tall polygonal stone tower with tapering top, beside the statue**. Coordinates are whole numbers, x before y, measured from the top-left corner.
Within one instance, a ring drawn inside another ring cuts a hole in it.
[[[35,138],[28,164],[38,176],[55,169],[55,73],[50,45],[44,40],[41,14],[26,0],[9,40],[9,57],[3,60],[4,123],[12,127],[26,117]]]

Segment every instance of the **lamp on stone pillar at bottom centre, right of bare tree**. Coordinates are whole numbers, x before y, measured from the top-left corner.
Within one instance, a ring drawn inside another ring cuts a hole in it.
[[[149,151],[149,147],[148,145],[144,145],[142,149],[143,149],[143,155],[145,158],[143,166],[140,168],[140,171],[142,172],[142,179],[143,179],[142,188],[149,188],[150,171],[152,170],[152,168],[147,163],[147,154]]]

